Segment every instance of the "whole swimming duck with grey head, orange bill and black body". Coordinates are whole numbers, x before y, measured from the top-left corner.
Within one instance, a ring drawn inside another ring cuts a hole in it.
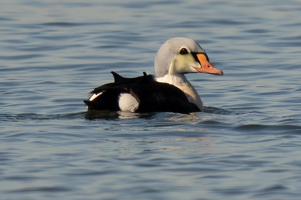
[[[155,56],[155,75],[126,78],[115,72],[114,82],[95,88],[88,100],[88,111],[128,112],[203,112],[202,100],[188,81],[187,73],[222,76],[202,47],[193,39],[175,37],[167,40]]]

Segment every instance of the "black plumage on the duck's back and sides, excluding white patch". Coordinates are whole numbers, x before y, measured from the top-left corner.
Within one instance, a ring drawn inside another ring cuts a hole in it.
[[[188,101],[185,93],[168,83],[157,82],[153,75],[135,78],[125,78],[115,72],[113,83],[107,83],[95,88],[91,94],[99,95],[92,101],[84,100],[88,110],[119,111],[119,96],[122,93],[131,94],[139,103],[135,112],[200,112],[200,109]]]

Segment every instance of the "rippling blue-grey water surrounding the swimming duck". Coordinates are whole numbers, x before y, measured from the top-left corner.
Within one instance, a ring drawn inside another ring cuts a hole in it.
[[[0,3],[0,199],[300,199],[299,1]],[[85,112],[172,37],[206,112]]]

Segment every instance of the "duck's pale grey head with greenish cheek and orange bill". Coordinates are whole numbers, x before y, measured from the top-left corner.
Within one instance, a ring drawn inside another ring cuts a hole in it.
[[[196,41],[185,37],[169,39],[161,46],[155,58],[155,71],[158,78],[181,73],[224,74],[209,62]]]

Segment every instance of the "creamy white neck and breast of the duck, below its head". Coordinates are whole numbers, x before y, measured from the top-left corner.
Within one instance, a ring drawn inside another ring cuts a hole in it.
[[[183,74],[166,74],[163,77],[157,78],[157,81],[169,83],[180,88],[186,94],[186,97],[191,103],[195,104],[202,112],[204,111],[203,103],[199,94]]]

